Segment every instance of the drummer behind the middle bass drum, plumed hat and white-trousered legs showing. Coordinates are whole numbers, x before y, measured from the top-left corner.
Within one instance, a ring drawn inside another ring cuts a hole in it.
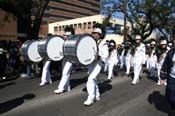
[[[64,40],[66,41],[68,39],[69,36],[74,34],[74,30],[73,28],[65,28],[65,33],[63,35]],[[60,94],[63,93],[65,91],[70,91],[71,87],[70,87],[70,74],[72,71],[72,66],[73,64],[70,61],[67,61],[66,59],[63,59],[62,61],[62,76],[61,76],[61,80],[60,83],[58,85],[58,88],[56,90],[54,90],[54,93],[56,94]]]

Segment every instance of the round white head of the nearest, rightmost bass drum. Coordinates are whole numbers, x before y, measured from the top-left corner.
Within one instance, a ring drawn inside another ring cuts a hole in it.
[[[84,37],[77,45],[77,58],[83,65],[91,64],[97,55],[97,42],[91,36]]]

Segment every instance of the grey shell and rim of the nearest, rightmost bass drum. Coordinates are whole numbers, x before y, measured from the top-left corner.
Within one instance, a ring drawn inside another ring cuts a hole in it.
[[[68,40],[65,42],[64,44],[64,57],[66,60],[71,61],[72,63],[81,63],[82,65],[89,65],[90,63],[86,64],[86,63],[82,63],[80,62],[79,58],[77,57],[77,46],[79,44],[79,42],[84,38],[84,37],[91,37],[93,38],[91,35],[89,34],[83,34],[83,35],[74,35],[74,36],[70,36],[68,38]],[[94,38],[93,38],[94,39]],[[95,39],[94,39],[95,41]],[[95,41],[96,43],[96,41]],[[97,44],[97,43],[96,43]],[[98,51],[98,47],[96,45],[96,49]],[[97,52],[96,51],[96,52]]]

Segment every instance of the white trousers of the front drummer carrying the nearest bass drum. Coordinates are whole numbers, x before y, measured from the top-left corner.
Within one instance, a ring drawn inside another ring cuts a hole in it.
[[[87,100],[89,101],[94,101],[96,97],[100,96],[97,76],[100,73],[101,68],[102,68],[101,61],[99,61],[97,64],[91,64],[90,66],[88,66],[89,77],[86,83],[86,88],[88,92]]]

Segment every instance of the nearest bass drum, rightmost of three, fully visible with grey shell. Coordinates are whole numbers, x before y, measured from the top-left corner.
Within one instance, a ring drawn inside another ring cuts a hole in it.
[[[72,63],[91,64],[97,57],[96,40],[89,34],[70,36],[64,44],[64,57]]]

